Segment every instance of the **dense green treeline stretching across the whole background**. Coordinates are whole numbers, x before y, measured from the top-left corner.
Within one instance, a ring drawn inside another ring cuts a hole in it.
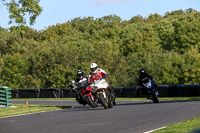
[[[200,83],[200,12],[75,18],[37,31],[0,27],[0,85],[66,88],[95,62],[114,87],[135,86],[145,68],[157,84]]]

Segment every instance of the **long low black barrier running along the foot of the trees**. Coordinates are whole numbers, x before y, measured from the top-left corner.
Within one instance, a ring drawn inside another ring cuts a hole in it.
[[[116,97],[144,97],[142,87],[112,87]],[[159,97],[200,96],[200,84],[194,85],[158,85]],[[12,89],[13,98],[72,98],[70,88]]]

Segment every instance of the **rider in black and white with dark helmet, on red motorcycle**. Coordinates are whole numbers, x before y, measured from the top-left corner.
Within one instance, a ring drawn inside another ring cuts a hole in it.
[[[84,72],[82,69],[77,71],[77,78],[75,80],[75,84],[77,85],[77,89],[73,90],[73,93],[75,93],[76,101],[79,104],[86,105],[87,102],[83,100],[82,94],[80,93],[80,89],[85,89],[86,86],[88,86],[88,76],[84,75]]]

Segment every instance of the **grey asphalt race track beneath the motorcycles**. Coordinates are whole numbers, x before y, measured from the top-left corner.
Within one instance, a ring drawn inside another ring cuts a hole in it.
[[[25,101],[13,101],[23,103]],[[117,101],[105,110],[75,101],[29,101],[73,108],[0,118],[0,133],[143,133],[200,116],[200,101]]]

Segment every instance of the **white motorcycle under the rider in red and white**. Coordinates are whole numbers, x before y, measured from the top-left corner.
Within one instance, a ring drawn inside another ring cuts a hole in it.
[[[106,82],[105,79],[98,79],[95,78],[95,76],[93,76],[93,78],[97,79],[93,80],[92,84],[90,85],[90,87],[92,88],[92,93],[95,96],[94,102],[101,103],[101,105],[105,109],[112,108],[114,98],[108,90],[108,87],[110,87],[109,84]]]

